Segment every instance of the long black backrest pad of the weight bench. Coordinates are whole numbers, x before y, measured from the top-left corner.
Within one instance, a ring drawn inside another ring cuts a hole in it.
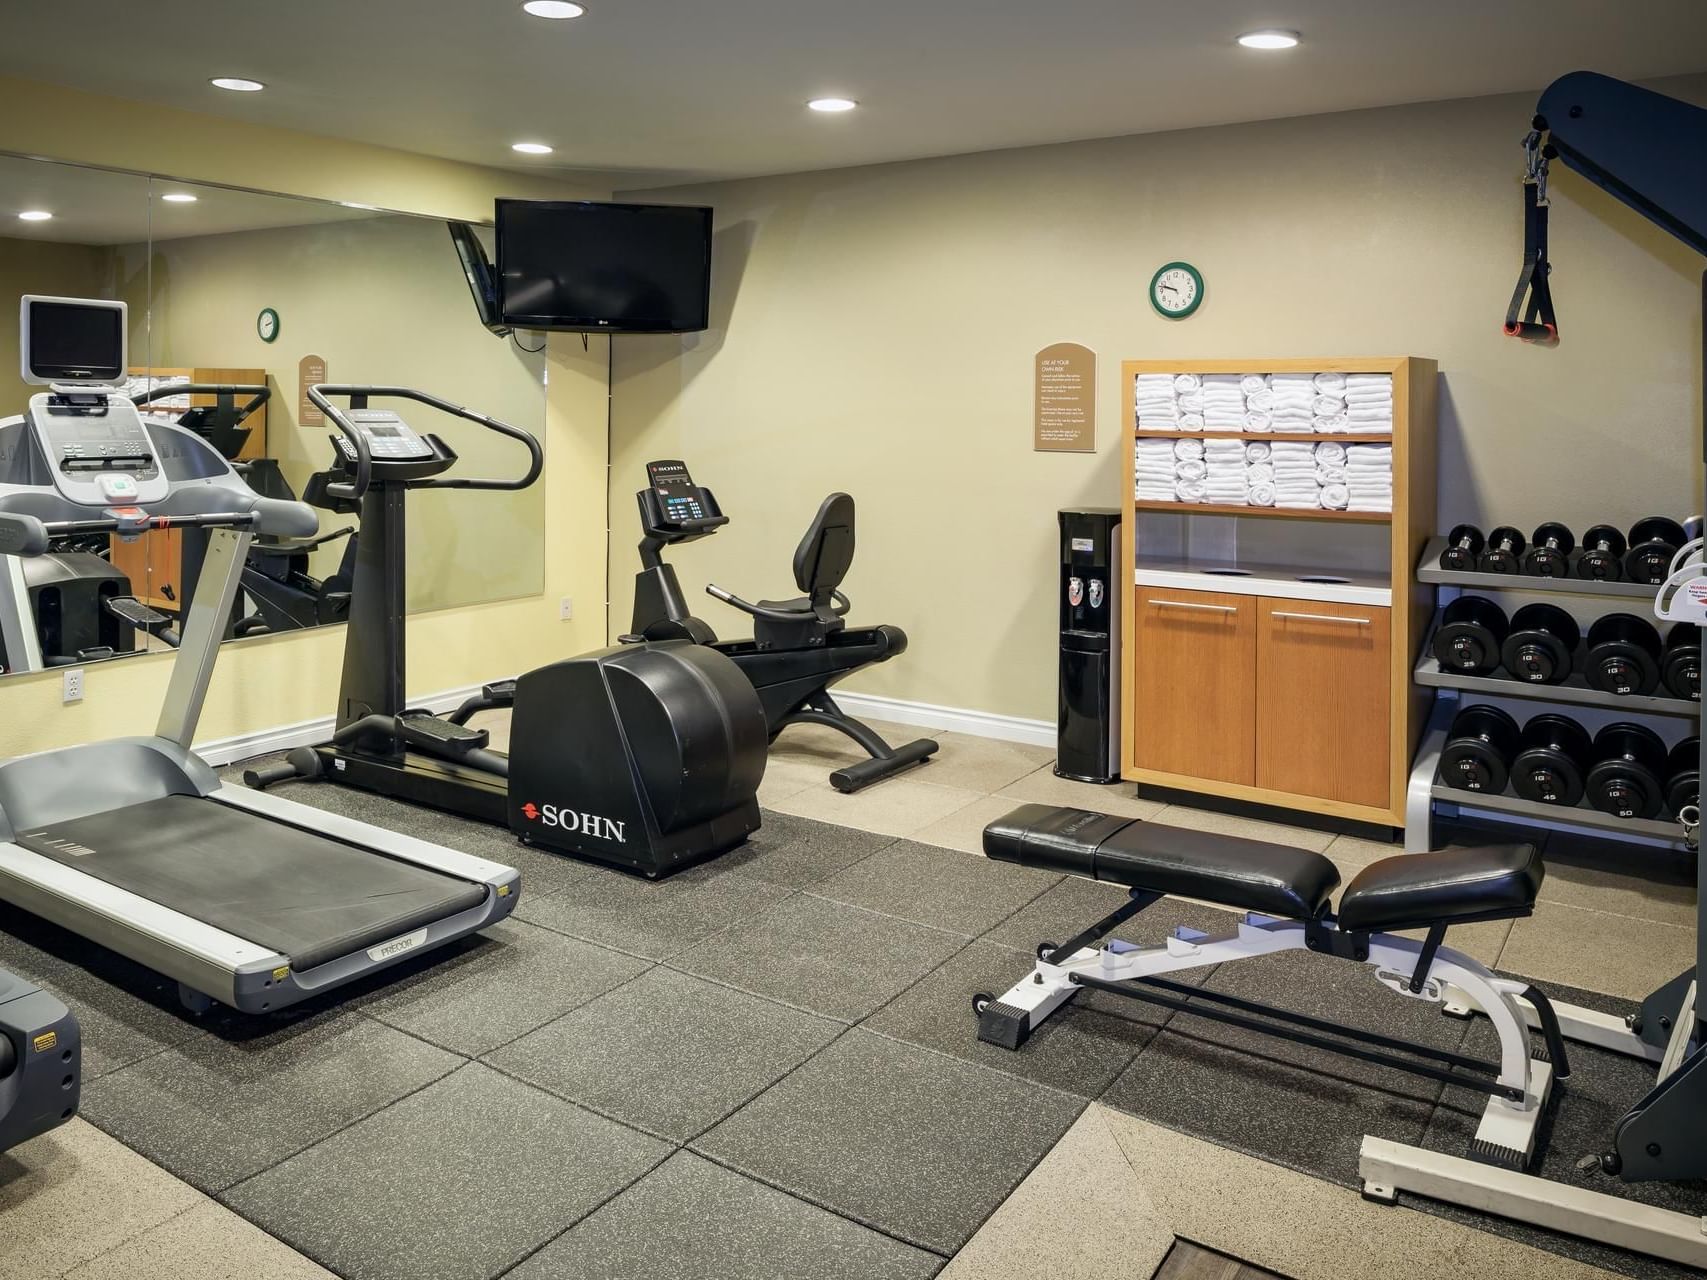
[[[1320,916],[1340,884],[1335,865],[1308,848],[1046,804],[1022,804],[990,823],[983,852],[1285,920]]]

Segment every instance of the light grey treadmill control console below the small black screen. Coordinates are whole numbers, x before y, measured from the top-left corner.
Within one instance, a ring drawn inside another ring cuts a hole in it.
[[[68,500],[96,510],[164,502],[166,473],[137,406],[104,389],[29,398],[29,427]]]

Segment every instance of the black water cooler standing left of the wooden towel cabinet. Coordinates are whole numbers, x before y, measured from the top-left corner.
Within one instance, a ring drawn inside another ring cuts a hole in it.
[[[1055,771],[1120,782],[1120,512],[1060,512],[1060,717]]]

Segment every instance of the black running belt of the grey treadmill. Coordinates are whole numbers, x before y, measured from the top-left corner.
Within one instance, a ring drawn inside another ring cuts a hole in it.
[[[196,795],[22,831],[32,853],[271,947],[302,973],[476,906],[442,876]]]

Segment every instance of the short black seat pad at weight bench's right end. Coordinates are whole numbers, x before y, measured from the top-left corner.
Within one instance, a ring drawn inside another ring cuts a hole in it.
[[[1427,928],[1529,915],[1541,887],[1535,845],[1442,848],[1371,862],[1340,898],[1340,928]]]

